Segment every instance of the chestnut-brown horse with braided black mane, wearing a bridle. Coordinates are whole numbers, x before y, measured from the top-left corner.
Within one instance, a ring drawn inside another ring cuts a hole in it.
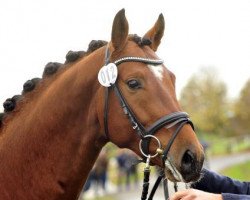
[[[178,104],[175,75],[155,53],[164,28],[160,14],[143,37],[128,34],[122,9],[110,42],[49,63],[19,100],[9,99],[0,126],[0,199],[77,199],[108,142],[164,168],[172,181],[199,179],[202,146]]]

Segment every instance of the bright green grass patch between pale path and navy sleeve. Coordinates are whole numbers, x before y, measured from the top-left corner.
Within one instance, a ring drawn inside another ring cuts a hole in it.
[[[220,173],[240,181],[250,181],[250,173],[247,173],[249,169],[250,169],[250,161],[247,161],[245,163],[228,167],[222,170]]]

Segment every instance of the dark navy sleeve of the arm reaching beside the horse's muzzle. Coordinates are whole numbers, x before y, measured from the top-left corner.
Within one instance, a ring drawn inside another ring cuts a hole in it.
[[[247,196],[250,195],[249,182],[236,181],[229,177],[216,174],[206,169],[203,169],[202,174],[203,177],[200,181],[192,185],[193,188],[217,194],[226,193],[222,195],[226,200],[250,200],[250,196]],[[242,194],[244,198],[236,198],[235,195],[232,194]]]

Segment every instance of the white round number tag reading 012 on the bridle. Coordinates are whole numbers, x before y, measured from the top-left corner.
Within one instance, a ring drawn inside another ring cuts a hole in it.
[[[104,87],[114,84],[118,76],[118,70],[114,63],[103,66],[98,73],[98,81]]]

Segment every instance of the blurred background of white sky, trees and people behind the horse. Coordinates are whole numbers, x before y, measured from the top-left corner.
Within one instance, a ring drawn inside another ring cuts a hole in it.
[[[48,62],[63,63],[69,50],[86,50],[93,39],[109,41],[114,15],[122,8],[130,33],[140,36],[163,13],[166,30],[157,54],[177,77],[180,104],[206,149],[205,166],[249,181],[248,0],[2,1],[0,103],[20,94],[26,80],[41,77]],[[143,166],[131,165],[136,159],[132,152],[108,144],[81,199],[139,197]]]

